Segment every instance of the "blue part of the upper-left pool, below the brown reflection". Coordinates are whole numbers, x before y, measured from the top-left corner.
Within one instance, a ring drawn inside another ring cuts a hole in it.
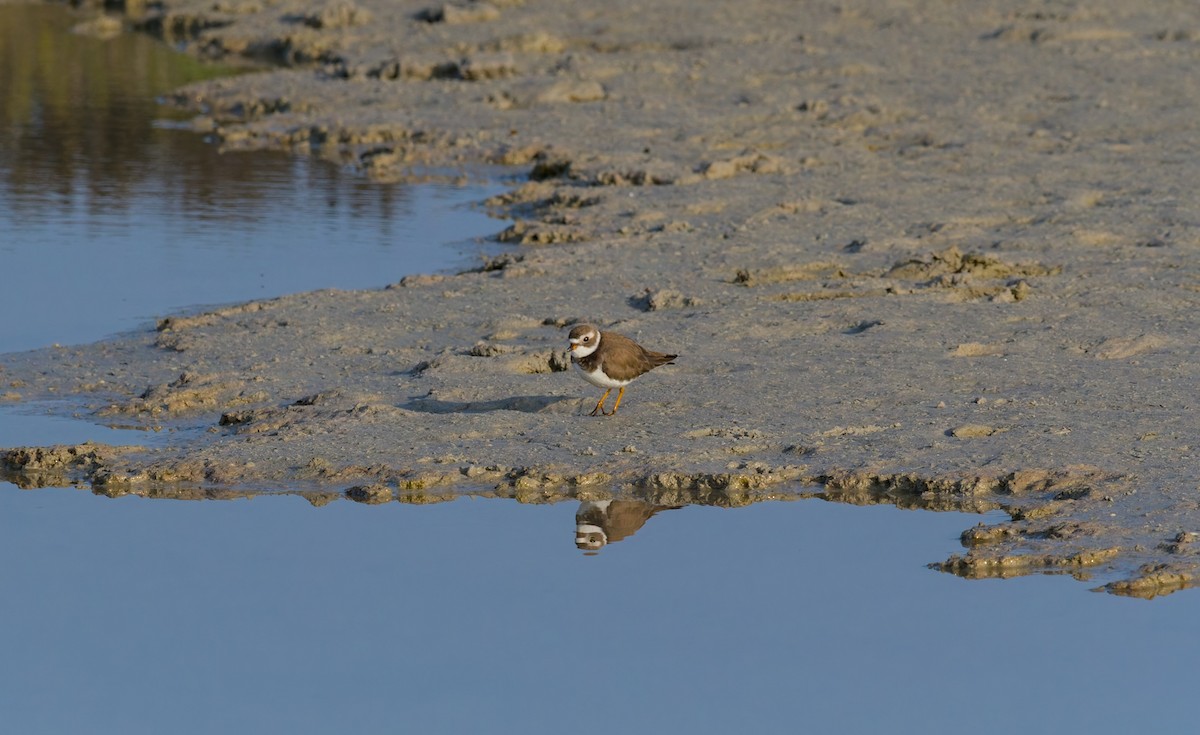
[[[410,273],[467,268],[478,250],[470,239],[497,229],[472,209],[498,192],[496,185],[408,187],[394,201],[388,185],[366,193],[365,181],[326,162],[296,166],[323,180],[295,187],[287,168],[263,171],[240,186],[268,198],[227,205],[234,221],[223,223],[152,191],[133,213],[42,222],[18,216],[0,197],[0,258],[6,273],[19,274],[0,288],[0,313],[22,315],[6,322],[0,351],[94,341],[200,305],[378,288]],[[239,183],[230,187],[235,193]]]

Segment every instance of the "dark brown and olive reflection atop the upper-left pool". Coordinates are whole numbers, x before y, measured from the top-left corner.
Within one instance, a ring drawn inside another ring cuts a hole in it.
[[[0,5],[0,193],[11,209],[35,210],[53,195],[64,207],[127,210],[149,189],[178,209],[228,219],[272,196],[230,181],[260,181],[264,166],[295,173],[282,154],[215,155],[188,130],[191,114],[156,101],[238,68],[144,34],[71,34],[86,17],[59,5]],[[385,208],[408,191],[366,189],[362,198]]]

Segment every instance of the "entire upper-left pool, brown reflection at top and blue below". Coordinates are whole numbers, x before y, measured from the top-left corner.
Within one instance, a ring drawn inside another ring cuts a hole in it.
[[[60,6],[0,5],[0,352],[156,317],[470,267],[502,191],[386,185],[326,161],[218,155],[155,97],[229,73],[142,35],[68,32]]]

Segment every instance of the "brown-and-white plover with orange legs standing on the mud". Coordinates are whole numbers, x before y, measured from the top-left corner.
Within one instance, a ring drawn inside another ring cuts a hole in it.
[[[671,365],[679,357],[652,352],[628,336],[616,331],[600,331],[592,324],[580,324],[572,329],[570,341],[571,361],[583,372],[583,380],[606,389],[592,410],[592,416],[617,413],[620,399],[625,395],[625,386],[659,365]],[[604,402],[613,388],[619,388],[617,402],[612,405],[612,411],[605,411]]]

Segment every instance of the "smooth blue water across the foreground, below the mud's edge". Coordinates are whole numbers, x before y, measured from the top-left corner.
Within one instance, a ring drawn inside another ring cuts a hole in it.
[[[978,520],[820,501],[118,500],[0,484],[18,733],[1163,731],[1195,596],[924,569]]]

